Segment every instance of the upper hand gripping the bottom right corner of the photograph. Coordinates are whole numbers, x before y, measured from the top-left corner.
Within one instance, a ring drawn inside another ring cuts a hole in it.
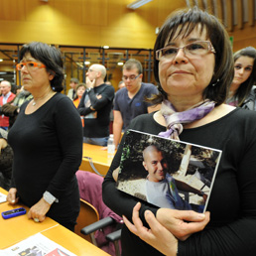
[[[192,233],[201,231],[209,222],[209,212],[197,213],[193,210],[160,208],[157,220],[179,240],[185,241]]]

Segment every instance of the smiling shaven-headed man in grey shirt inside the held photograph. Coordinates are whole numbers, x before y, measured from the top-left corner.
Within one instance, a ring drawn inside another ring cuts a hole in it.
[[[169,166],[162,152],[156,145],[150,145],[143,151],[143,166],[148,172],[146,178],[147,201],[159,207],[173,209],[192,209],[192,205],[179,194],[193,192],[202,193],[184,182],[175,180],[168,172]]]

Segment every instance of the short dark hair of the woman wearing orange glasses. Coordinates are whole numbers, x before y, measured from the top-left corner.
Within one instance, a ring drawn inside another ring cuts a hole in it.
[[[19,60],[22,60],[28,53],[34,59],[45,64],[47,66],[47,71],[52,72],[55,75],[51,80],[51,86],[54,91],[61,92],[64,89],[64,62],[61,51],[41,42],[32,42],[22,47],[19,54]]]

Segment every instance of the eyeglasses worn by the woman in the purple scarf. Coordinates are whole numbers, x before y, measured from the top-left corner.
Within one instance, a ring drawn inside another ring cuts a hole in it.
[[[184,54],[188,58],[203,56],[209,52],[213,54],[216,53],[209,41],[196,41],[196,42],[193,42],[192,44],[189,44],[180,48],[178,47],[162,48],[156,52],[156,59],[158,61],[161,61],[161,60],[172,61],[176,57],[180,49],[183,49]]]

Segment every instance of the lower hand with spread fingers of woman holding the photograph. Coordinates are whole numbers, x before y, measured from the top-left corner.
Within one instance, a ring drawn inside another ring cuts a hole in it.
[[[159,223],[150,210],[145,211],[145,219],[148,222],[150,229],[143,226],[139,217],[140,207],[141,203],[138,202],[133,208],[132,220],[134,224],[123,216],[124,223],[129,230],[163,254],[169,256],[177,255],[178,240],[175,236]]]

